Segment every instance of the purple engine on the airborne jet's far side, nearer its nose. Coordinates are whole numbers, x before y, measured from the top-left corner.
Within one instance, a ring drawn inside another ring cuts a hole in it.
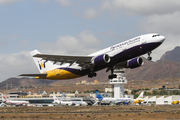
[[[134,58],[134,59],[128,61],[126,67],[133,69],[133,68],[137,68],[143,64],[144,64],[143,59],[141,57],[138,57],[138,58]]]

